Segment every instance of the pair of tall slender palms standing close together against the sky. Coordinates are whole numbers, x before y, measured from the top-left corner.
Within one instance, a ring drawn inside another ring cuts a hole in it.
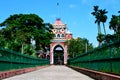
[[[107,20],[107,15],[105,15],[107,13],[106,9],[99,9],[99,6],[94,6],[94,12],[92,12],[91,14],[93,16],[95,16],[96,20],[95,23],[97,23],[98,25],[98,36],[97,36],[97,40],[99,42],[99,45],[101,45],[103,39],[105,39],[104,37],[106,36],[106,30],[105,30],[105,22]],[[101,33],[101,26],[100,23],[102,22],[103,24],[103,29],[104,29],[104,34]]]

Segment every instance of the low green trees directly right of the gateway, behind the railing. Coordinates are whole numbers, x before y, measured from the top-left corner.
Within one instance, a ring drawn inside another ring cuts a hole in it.
[[[69,57],[73,58],[81,53],[87,52],[86,50],[93,49],[93,46],[85,38],[77,38],[66,41],[68,45]]]

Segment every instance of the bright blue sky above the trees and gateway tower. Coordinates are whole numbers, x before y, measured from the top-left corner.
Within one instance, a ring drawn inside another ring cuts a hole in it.
[[[105,23],[107,34],[113,34],[109,22],[112,15],[119,15],[120,10],[120,0],[0,0],[0,3],[0,23],[10,15],[20,13],[37,14],[45,23],[51,24],[54,24],[56,18],[61,18],[62,23],[67,24],[68,30],[72,32],[73,38],[87,38],[93,46],[98,45],[97,24],[91,15],[93,6],[98,5],[100,9],[108,11]]]

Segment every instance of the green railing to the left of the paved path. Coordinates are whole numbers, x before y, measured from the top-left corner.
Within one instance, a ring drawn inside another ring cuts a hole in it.
[[[49,60],[33,58],[0,47],[0,71],[48,65]]]

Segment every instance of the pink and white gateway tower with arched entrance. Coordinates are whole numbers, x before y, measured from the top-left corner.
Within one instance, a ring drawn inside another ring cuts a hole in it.
[[[66,30],[66,24],[60,19],[56,19],[52,32],[54,39],[50,44],[50,64],[67,64],[68,52],[65,41],[72,38],[72,33]]]

